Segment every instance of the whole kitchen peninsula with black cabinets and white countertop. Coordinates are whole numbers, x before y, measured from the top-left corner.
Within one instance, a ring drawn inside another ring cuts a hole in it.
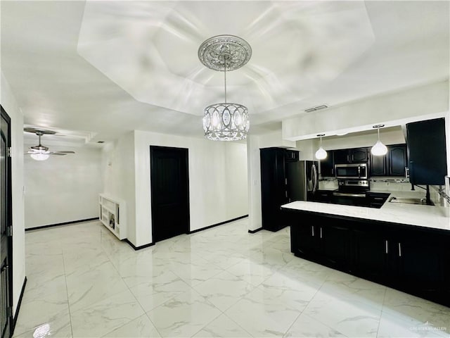
[[[449,208],[295,201],[281,206],[295,256],[450,306]]]

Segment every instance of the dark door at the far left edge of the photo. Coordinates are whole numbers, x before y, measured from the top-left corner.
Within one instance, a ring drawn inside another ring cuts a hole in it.
[[[0,190],[1,190],[1,215],[0,215],[0,336],[12,335],[12,306],[13,306],[13,237],[11,223],[11,120],[0,106],[1,110],[1,137],[0,137]]]

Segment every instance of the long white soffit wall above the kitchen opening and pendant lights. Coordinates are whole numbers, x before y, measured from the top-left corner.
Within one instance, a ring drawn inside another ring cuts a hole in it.
[[[300,140],[317,134],[371,130],[445,116],[449,112],[449,81],[371,97],[316,113],[283,120],[283,138]]]

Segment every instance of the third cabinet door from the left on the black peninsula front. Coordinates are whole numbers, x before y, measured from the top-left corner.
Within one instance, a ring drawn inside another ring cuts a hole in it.
[[[385,276],[389,242],[383,232],[354,230],[354,270],[361,277],[381,281]]]

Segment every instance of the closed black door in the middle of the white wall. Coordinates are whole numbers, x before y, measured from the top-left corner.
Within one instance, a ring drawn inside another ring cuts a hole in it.
[[[150,146],[153,242],[189,232],[188,149]]]

